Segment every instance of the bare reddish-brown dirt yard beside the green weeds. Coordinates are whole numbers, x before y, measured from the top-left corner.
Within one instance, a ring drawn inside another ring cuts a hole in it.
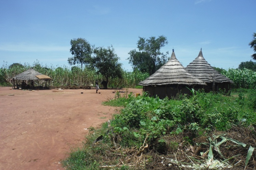
[[[0,87],[0,169],[63,169],[60,160],[82,146],[88,128],[117,113],[101,104],[114,98],[113,91]],[[128,91],[142,94],[141,89]]]

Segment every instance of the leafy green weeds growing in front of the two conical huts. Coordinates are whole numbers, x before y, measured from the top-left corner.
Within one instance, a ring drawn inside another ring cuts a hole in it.
[[[208,132],[213,129],[227,130],[232,125],[252,124],[255,121],[255,104],[250,100],[254,102],[255,96],[254,90],[243,105],[237,102],[241,99],[203,92],[181,100],[139,96],[115,115],[111,125],[120,135],[120,145],[127,145],[128,138],[132,138],[132,143],[138,146],[145,138],[148,144],[153,144],[163,135],[179,134],[181,131],[188,134],[187,140],[191,142],[190,137],[197,136],[203,129]]]

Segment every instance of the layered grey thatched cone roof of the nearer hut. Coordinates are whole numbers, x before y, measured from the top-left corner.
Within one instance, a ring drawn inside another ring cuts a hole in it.
[[[142,86],[150,85],[205,85],[201,80],[191,75],[177,60],[174,50],[170,60],[160,67],[154,74],[139,83]]]

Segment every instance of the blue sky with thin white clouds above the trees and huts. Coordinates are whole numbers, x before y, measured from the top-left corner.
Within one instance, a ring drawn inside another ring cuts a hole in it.
[[[39,61],[70,67],[70,40],[113,46],[127,71],[128,52],[140,37],[164,35],[186,67],[202,48],[219,68],[252,60],[248,46],[256,32],[255,0],[6,0],[0,2],[0,67]],[[7,62],[7,63],[6,63]],[[255,62],[255,61],[254,61]],[[80,66],[80,65],[79,65]]]

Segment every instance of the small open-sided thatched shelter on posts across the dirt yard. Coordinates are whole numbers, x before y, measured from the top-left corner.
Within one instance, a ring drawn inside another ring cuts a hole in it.
[[[16,88],[37,88],[34,87],[34,81],[40,81],[40,80],[44,80],[45,81],[45,87],[47,87],[47,81],[50,82],[52,78],[48,77],[47,75],[43,75],[37,71],[35,71],[34,69],[28,69],[18,75],[16,75],[13,78],[13,88],[15,88],[15,86],[17,86]],[[19,83],[18,83],[19,82]],[[24,84],[21,84],[21,82],[25,83],[26,86]],[[50,86],[50,83],[48,83],[48,85]]]

